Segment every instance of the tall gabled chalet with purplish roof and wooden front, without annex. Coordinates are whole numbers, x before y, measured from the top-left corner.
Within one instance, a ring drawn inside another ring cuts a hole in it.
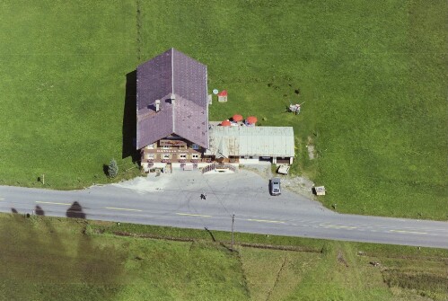
[[[144,169],[200,161],[208,148],[206,66],[169,49],[138,66],[136,80],[136,148]]]

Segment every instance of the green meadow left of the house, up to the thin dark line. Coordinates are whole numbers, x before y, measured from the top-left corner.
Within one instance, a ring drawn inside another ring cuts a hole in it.
[[[121,170],[132,1],[2,1],[0,183],[73,189]]]

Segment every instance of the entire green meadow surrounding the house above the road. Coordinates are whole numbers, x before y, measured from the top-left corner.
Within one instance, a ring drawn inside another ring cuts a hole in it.
[[[227,89],[211,120],[293,126],[293,172],[338,211],[448,212],[445,1],[58,1],[0,4],[0,183],[106,182],[121,159],[126,75],[174,47]],[[296,93],[299,92],[298,94]],[[299,116],[285,113],[304,102]],[[313,145],[310,160],[306,146]]]

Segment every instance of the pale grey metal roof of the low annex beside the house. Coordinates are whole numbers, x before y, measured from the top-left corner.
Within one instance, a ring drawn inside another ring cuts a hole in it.
[[[206,155],[294,156],[292,127],[211,126],[209,137]]]

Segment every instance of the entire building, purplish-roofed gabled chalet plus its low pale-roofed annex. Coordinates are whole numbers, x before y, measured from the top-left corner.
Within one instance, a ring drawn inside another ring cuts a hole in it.
[[[208,172],[215,161],[231,170],[262,161],[293,163],[291,127],[209,122],[206,66],[180,51],[169,49],[138,66],[136,81],[136,149],[146,172],[167,164]]]

